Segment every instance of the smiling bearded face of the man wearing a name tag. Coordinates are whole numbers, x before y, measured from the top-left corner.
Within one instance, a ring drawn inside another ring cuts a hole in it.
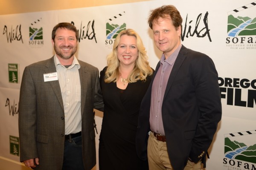
[[[77,50],[76,33],[66,28],[58,28],[52,45],[58,58],[70,59]]]

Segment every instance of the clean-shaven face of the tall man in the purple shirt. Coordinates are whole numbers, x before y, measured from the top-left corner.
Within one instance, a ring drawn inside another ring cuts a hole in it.
[[[175,28],[169,16],[159,17],[152,23],[154,43],[167,59],[180,45],[181,27]]]

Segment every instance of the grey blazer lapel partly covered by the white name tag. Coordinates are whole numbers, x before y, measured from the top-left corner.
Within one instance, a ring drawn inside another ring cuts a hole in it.
[[[56,72],[54,57],[50,58],[45,66],[46,66],[45,73]],[[58,81],[50,81],[49,83],[52,86],[52,90],[54,91],[54,93],[58,99],[58,102],[60,103],[61,108],[64,112],[64,105],[63,105],[63,100],[62,100],[62,96],[61,96],[61,87],[60,87],[59,82]]]

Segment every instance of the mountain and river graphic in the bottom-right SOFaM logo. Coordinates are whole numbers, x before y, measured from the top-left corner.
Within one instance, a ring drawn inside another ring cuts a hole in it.
[[[231,141],[228,137],[226,137],[224,153],[225,157],[229,159],[237,159],[256,164],[256,144],[248,147],[244,143]]]

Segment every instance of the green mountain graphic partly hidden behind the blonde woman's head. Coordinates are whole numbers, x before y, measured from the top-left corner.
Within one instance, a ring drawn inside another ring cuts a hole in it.
[[[106,35],[107,39],[115,39],[116,36],[122,31],[126,29],[126,23],[123,23],[122,26],[119,26],[117,24],[109,24],[106,23]]]

